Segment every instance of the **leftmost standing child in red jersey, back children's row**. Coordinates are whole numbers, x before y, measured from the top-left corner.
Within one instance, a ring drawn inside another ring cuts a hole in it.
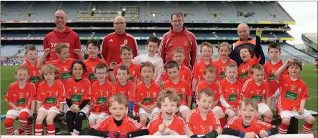
[[[24,61],[23,65],[27,66],[29,68],[29,74],[30,82],[35,84],[35,89],[38,89],[38,85],[40,84],[40,71],[38,68],[36,68],[38,64],[38,51],[35,48],[35,45],[26,45],[25,47],[26,51],[24,56],[26,57],[26,60]]]

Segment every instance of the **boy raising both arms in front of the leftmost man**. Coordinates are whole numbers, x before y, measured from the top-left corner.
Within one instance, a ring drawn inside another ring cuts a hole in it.
[[[71,64],[73,63],[73,61],[75,61],[75,59],[70,58],[70,49],[68,49],[68,46],[65,45],[64,43],[58,43],[55,45],[55,52],[56,55],[58,56],[57,60],[53,60],[53,61],[48,61],[45,64],[53,64],[54,66],[56,66],[56,68],[58,68],[59,72],[60,72],[60,81],[64,84],[64,86],[66,86],[67,84],[67,80],[72,78],[72,73],[70,70]],[[81,61],[84,61],[84,57],[81,55],[81,50],[80,49],[74,49],[75,54],[77,54],[79,56],[79,59]],[[47,55],[49,55],[50,53],[50,49],[44,49],[44,54],[41,57],[41,59],[38,62],[38,65],[36,66],[37,68],[41,69],[43,66],[43,63],[45,61],[45,58],[47,57]]]

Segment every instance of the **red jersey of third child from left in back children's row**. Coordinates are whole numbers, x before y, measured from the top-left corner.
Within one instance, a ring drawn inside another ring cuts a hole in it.
[[[84,61],[85,63],[85,66],[87,68],[87,76],[88,76],[88,80],[90,81],[90,84],[93,84],[96,80],[97,80],[97,77],[95,77],[95,66],[97,66],[98,63],[104,63],[106,64],[107,66],[107,63],[106,61],[100,59],[99,57],[97,58],[90,58],[88,57],[88,59],[86,59]],[[109,68],[107,66],[107,68]]]

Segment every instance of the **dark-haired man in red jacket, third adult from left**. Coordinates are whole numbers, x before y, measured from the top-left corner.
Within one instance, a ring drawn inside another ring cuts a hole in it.
[[[193,33],[186,30],[183,26],[184,20],[182,13],[171,14],[170,31],[164,34],[159,46],[159,56],[164,62],[172,61],[173,49],[177,47],[184,48],[184,65],[191,68],[197,62],[197,44],[196,36]],[[190,63],[191,61],[191,63]],[[190,65],[191,64],[191,65]]]

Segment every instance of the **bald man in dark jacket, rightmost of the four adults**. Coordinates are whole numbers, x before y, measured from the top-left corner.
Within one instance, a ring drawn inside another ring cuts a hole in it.
[[[243,61],[239,56],[239,52],[237,51],[239,47],[242,45],[248,45],[255,52],[256,49],[256,40],[250,36],[250,29],[247,24],[241,23],[237,26],[237,34],[239,35],[239,40],[231,46],[232,52],[230,53],[230,59],[237,63],[237,66],[241,65]],[[262,47],[260,47],[260,63],[263,65],[265,63],[265,56]]]

